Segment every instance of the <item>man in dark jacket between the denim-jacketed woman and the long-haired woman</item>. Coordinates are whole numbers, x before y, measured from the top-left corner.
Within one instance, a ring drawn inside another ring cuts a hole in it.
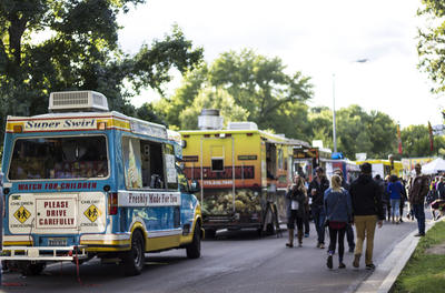
[[[317,230],[317,247],[325,249],[325,208],[323,206],[325,191],[329,188],[329,181],[320,166],[315,169],[316,176],[309,184],[308,194],[313,200],[313,218]]]

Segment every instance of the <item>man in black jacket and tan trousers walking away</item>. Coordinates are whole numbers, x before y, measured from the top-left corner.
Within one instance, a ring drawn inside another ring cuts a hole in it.
[[[350,184],[354,224],[357,232],[357,242],[354,251],[353,266],[358,267],[363,252],[363,242],[366,236],[365,264],[367,270],[374,270],[373,250],[376,224],[382,228],[385,219],[382,205],[382,190],[372,178],[372,165],[360,165],[360,175]]]

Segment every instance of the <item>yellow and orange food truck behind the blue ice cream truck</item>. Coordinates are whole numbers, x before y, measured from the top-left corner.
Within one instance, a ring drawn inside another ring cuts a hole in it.
[[[180,131],[186,176],[200,182],[206,236],[220,229],[274,233],[286,221],[293,146],[308,145],[258,130],[253,122],[229,122],[224,130],[219,123],[220,129],[204,122],[201,130]]]

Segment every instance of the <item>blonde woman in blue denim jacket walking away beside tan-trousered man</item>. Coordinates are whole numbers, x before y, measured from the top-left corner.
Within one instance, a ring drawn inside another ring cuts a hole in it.
[[[333,255],[338,236],[338,269],[345,269],[343,255],[345,253],[346,225],[352,221],[352,202],[349,192],[342,188],[342,178],[334,174],[330,186],[325,192],[324,203],[326,210],[327,226],[329,230],[329,247],[326,265],[333,269]]]

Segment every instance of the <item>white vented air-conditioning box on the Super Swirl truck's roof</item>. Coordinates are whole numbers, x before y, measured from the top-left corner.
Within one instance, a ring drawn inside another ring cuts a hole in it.
[[[50,112],[109,111],[107,98],[95,91],[51,92]]]

